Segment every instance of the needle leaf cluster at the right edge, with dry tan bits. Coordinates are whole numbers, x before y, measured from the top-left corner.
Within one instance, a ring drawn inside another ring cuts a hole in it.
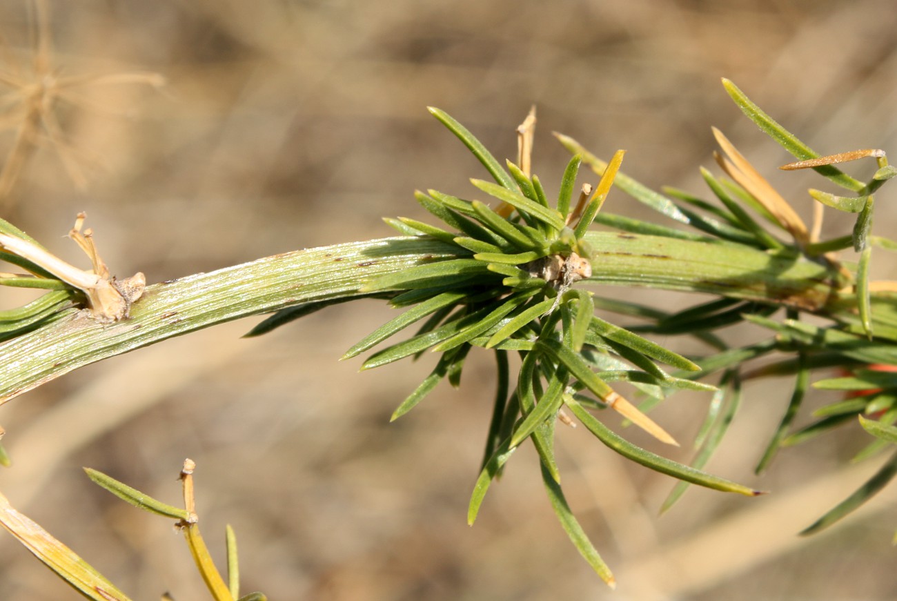
[[[897,175],[897,169],[888,164],[884,151],[877,149],[821,156],[763,112],[734,83],[723,80],[723,84],[745,115],[797,158],[782,166],[782,170],[813,169],[846,189],[848,194],[840,196],[810,188],[809,196],[816,204],[814,223],[807,227],[791,204],[754,170],[724,135],[714,130],[723,150],[716,154],[716,160],[729,179],[716,178],[703,168],[701,175],[716,203],[672,188],[659,194],[622,173],[615,179],[618,187],[640,203],[699,233],[609,213],[599,214],[596,222],[633,234],[753,247],[770,257],[795,263],[812,262],[825,267],[824,279],[831,292],[823,302],[799,296],[765,302],[721,296],[676,314],[621,301],[604,300],[597,306],[649,322],[631,327],[632,331],[692,335],[714,350],[694,358],[700,370],[685,376],[706,378],[721,374],[718,392],[710,402],[694,443],[697,455],[692,466],[704,466],[718,449],[736,416],[745,379],[788,375],[794,376],[794,389],[778,428],[759,454],[757,474],[770,466],[782,447],[812,440],[839,425],[856,426],[858,419],[859,425],[875,436],[875,440],[854,460],[874,457],[897,443],[897,428],[892,425],[897,422],[897,377],[889,373],[897,365],[897,283],[869,279],[873,248],[897,250],[897,242],[871,233],[874,193]],[[585,151],[581,144],[568,136],[558,137],[593,170],[598,173],[605,170],[606,163]],[[867,182],[835,167],[838,163],[863,158],[876,161],[877,169]],[[830,240],[819,240],[824,207],[856,214],[852,231]],[[858,258],[844,260],[838,255],[842,250],[852,250],[858,253]],[[809,316],[813,318],[807,319]],[[716,331],[741,322],[762,327],[772,335],[758,343],[729,347]],[[840,370],[841,375],[811,385],[814,370],[831,372],[832,369]],[[811,387],[841,390],[845,396],[816,408],[812,412],[814,421],[798,427],[797,416]],[[891,450],[891,457],[867,483],[806,527],[802,534],[812,534],[832,525],[879,492],[897,475],[897,451]],[[662,509],[672,506],[685,487],[685,483],[677,484]]]

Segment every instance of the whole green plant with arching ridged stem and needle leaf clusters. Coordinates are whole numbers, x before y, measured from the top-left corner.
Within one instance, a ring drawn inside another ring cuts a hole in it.
[[[0,319],[4,356],[15,361],[14,365],[0,364],[0,399],[92,361],[228,319],[277,311],[249,333],[261,335],[335,302],[387,299],[405,311],[362,338],[344,358],[367,352],[414,324],[420,324],[414,335],[374,352],[362,369],[419,357],[428,349],[439,353],[435,368],[398,405],[393,419],[420,403],[440,380],[458,386],[473,348],[489,349],[495,355],[498,389],[468,520],[475,520],[490,484],[506,468],[514,450],[532,440],[545,491],[562,527],[601,578],[613,585],[610,570],[563,496],[553,453],[558,421],[579,422],[623,457],[678,478],[681,482],[663,509],[682,495],[688,483],[758,494],[752,487],[701,471],[736,416],[746,379],[795,376],[787,410],[758,457],[758,472],[770,465],[781,447],[841,423],[856,422],[858,416],[862,427],[876,437],[861,457],[897,441],[893,427],[897,377],[881,367],[897,363],[897,285],[869,281],[872,248],[897,248],[897,242],[871,233],[874,194],[897,170],[887,164],[880,150],[820,156],[733,83],[724,80],[724,85],[737,106],[797,158],[785,169],[816,170],[849,194],[811,189],[810,196],[820,208],[807,226],[767,179],[714,130],[721,148],[717,162],[727,178],[718,178],[710,170],[702,169],[701,174],[715,202],[675,189],[666,189],[664,194],[650,190],[620,170],[622,151],[611,161],[601,161],[566,135],[557,137],[573,156],[559,191],[549,196],[542,180],[532,173],[535,113],[518,128],[518,161],[502,164],[455,119],[431,109],[492,176],[493,182],[474,179],[472,183],[480,193],[491,196],[495,206],[435,190],[417,192],[417,201],[441,224],[387,219],[401,238],[268,257],[147,286],[138,296],[124,292],[109,277],[85,238],[80,244],[91,255],[94,270],[79,278],[92,277],[91,286],[106,282],[124,300],[124,310],[100,309],[98,313],[100,303],[91,300],[83,285],[66,280],[46,261],[36,260],[33,248],[39,248],[37,244],[4,223],[0,243],[12,253],[10,261],[32,275],[7,275],[0,283],[37,284],[54,292],[11,309]],[[878,169],[866,183],[834,166],[867,157],[877,161]],[[599,177],[594,188],[576,187],[581,165]],[[604,210],[613,186],[656,210],[658,222]],[[853,230],[821,240],[823,206],[856,214]],[[593,223],[605,229],[590,229]],[[74,232],[80,232],[80,227]],[[29,242],[22,246],[19,240]],[[22,253],[22,248],[32,254]],[[848,249],[858,253],[856,263],[840,257],[839,251]],[[132,283],[135,290],[142,290],[139,279]],[[669,313],[602,298],[584,290],[590,284],[703,292],[716,298]],[[234,293],[237,290],[239,294]],[[91,311],[73,307],[85,300]],[[615,325],[598,318],[596,309],[638,321],[628,327]],[[804,319],[806,315],[814,320]],[[741,322],[769,335],[757,343],[731,346],[718,330]],[[692,336],[708,351],[685,357],[645,337],[652,335]],[[36,350],[39,361],[29,361]],[[511,378],[511,353],[518,355],[516,379]],[[765,361],[755,361],[760,358]],[[822,407],[815,412],[818,421],[796,428],[795,416],[813,371],[832,367],[848,370],[849,375],[817,381],[816,388],[860,394]],[[711,377],[716,385],[699,381]],[[616,382],[630,385],[639,404],[614,390],[611,385]],[[692,466],[641,449],[610,430],[595,413],[612,408],[658,440],[675,444],[648,413],[682,389],[710,393]],[[895,473],[897,453],[867,485],[807,532],[856,509]]]

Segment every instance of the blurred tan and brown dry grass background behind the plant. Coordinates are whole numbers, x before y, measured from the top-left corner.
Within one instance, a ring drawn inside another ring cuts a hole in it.
[[[897,152],[897,13],[888,0],[49,2],[53,47],[37,54],[30,6],[0,4],[4,81],[33,82],[37,56],[48,61],[38,65],[44,83],[154,72],[167,85],[88,80],[68,90],[49,107],[64,137],[31,122],[33,152],[16,151],[22,169],[3,216],[75,260],[60,235],[86,210],[113,271],[143,270],[151,283],[389,235],[381,215],[421,216],[414,188],[469,193],[466,179],[483,173],[427,105],[513,156],[513,128],[536,103],[536,172],[550,187],[567,160],[551,130],[599,155],[627,149],[624,170],[652,187],[701,190],[711,125],[772,173],[787,157],[740,116],[720,76],[821,152]],[[19,92],[7,90],[0,152],[27,125],[9,102]],[[771,179],[798,203],[816,184]],[[619,194],[609,202],[637,211]],[[895,213],[881,205],[878,228],[891,234]],[[897,271],[885,259],[875,268]],[[795,536],[875,469],[845,467],[860,437],[790,449],[753,477],[788,401],[785,382],[747,388],[711,464],[774,491],[761,499],[694,491],[657,518],[669,479],[624,465],[582,429],[561,431],[564,485],[617,573],[615,593],[556,523],[529,449],[467,527],[492,365],[473,357],[460,391],[440,388],[388,424],[427,361],[364,374],[358,361],[336,361],[387,316],[376,303],[352,304],[255,340],[239,335],[257,320],[242,321],[32,391],[0,414],[15,461],[0,490],[138,599],[207,594],[170,525],[100,491],[81,466],[177,501],[180,462],[195,459],[206,538],[220,551],[230,522],[244,590],[272,599],[897,596],[897,494],[831,533]],[[658,419],[688,440],[706,402],[677,398]],[[688,451],[673,456],[687,460]],[[0,537],[0,599],[73,597]]]

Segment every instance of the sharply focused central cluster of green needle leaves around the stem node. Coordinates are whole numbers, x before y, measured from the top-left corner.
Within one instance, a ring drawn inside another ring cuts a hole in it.
[[[439,109],[431,109],[431,113],[492,175],[495,183],[479,179],[472,183],[492,196],[498,206],[492,209],[478,200],[429,190],[415,197],[447,227],[405,217],[387,219],[401,233],[440,240],[451,245],[453,252],[448,253],[449,258],[434,258],[367,283],[361,292],[392,292],[391,304],[405,312],[364,337],[344,358],[368,351],[422,321],[410,338],[373,353],[362,365],[362,369],[372,369],[419,356],[428,349],[440,353],[431,374],[398,406],[395,420],[420,403],[440,380],[448,379],[457,386],[467,354],[474,347],[492,349],[498,389],[468,521],[474,522],[490,483],[501,474],[514,450],[532,440],[545,491],[562,527],[601,578],[613,584],[611,572],[574,518],[560,487],[553,439],[558,420],[571,422],[566,411],[609,448],[658,472],[721,491],[757,492],[641,449],[608,429],[590,411],[613,408],[658,440],[676,444],[609,382],[629,382],[651,397],[678,389],[716,390],[667,373],[658,362],[683,372],[701,368],[598,318],[593,294],[575,285],[592,273],[594,249],[585,239],[586,232],[612,186],[623,152],[614,155],[594,190],[587,185],[579,191],[577,202],[573,202],[574,186],[582,160],[579,154],[573,156],[556,199],[549,202],[536,175],[528,175],[510,161],[502,166],[455,119]],[[526,148],[527,144],[523,141],[520,146]],[[521,159],[528,163],[524,151]],[[279,323],[283,316],[272,319]],[[516,353],[520,361],[516,382],[510,378],[509,353]]]

